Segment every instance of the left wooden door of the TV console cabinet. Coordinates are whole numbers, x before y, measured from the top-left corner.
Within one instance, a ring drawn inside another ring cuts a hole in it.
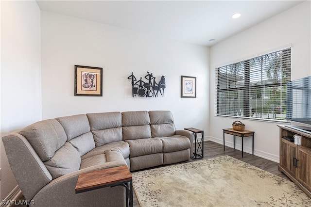
[[[294,158],[296,156],[296,145],[285,139],[281,139],[280,165],[287,169],[287,172],[295,176],[296,167]]]

